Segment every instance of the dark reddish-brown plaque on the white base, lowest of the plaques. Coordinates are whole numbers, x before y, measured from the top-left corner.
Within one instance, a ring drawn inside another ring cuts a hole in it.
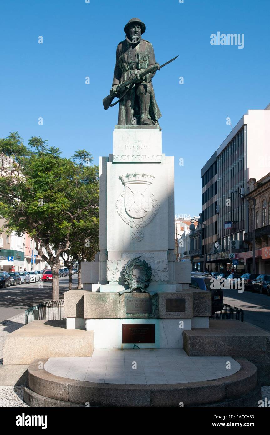
[[[155,343],[155,324],[123,323],[122,343]]]

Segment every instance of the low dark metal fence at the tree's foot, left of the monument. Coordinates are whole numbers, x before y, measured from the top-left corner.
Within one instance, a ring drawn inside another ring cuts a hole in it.
[[[33,320],[63,320],[64,300],[47,301],[25,310],[25,324]]]

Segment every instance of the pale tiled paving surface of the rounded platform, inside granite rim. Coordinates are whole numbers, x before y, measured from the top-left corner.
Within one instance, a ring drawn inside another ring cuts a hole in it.
[[[78,381],[164,385],[225,378],[240,364],[230,357],[189,357],[183,349],[95,349],[92,357],[49,358],[44,369]]]

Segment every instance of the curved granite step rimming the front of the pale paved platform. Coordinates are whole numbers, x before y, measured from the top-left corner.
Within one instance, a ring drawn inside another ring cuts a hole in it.
[[[61,378],[40,369],[40,360],[35,360],[28,368],[24,398],[30,406],[257,406],[257,369],[246,359],[237,362],[237,373],[214,381],[123,385]]]

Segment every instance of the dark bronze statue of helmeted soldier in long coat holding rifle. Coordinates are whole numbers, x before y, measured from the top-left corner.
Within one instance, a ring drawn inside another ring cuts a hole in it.
[[[139,18],[132,18],[124,27],[126,39],[117,46],[110,95],[119,97],[117,86],[126,80],[134,77],[136,82],[119,102],[118,125],[155,125],[162,116],[152,85],[156,72],[147,74],[143,81],[139,77],[140,73],[156,64],[152,44],[141,38],[145,30],[146,26]]]

